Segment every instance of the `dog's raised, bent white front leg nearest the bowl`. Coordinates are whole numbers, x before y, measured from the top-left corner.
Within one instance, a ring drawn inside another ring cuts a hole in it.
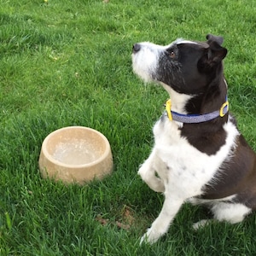
[[[148,159],[140,166],[138,174],[142,177],[143,181],[148,184],[150,189],[153,189],[155,192],[164,192],[164,183],[160,177],[155,176],[157,170],[155,170],[154,165],[156,162],[158,162],[158,157],[155,154],[155,149],[153,149]]]

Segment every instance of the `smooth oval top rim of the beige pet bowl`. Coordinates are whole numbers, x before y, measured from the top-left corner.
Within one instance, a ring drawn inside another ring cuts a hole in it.
[[[81,130],[87,130],[87,131],[93,131],[94,133],[96,133],[98,136],[100,136],[103,140],[103,142],[105,143],[106,145],[106,149],[104,150],[103,154],[97,158],[96,160],[90,162],[90,163],[87,163],[87,164],[79,164],[79,165],[69,165],[69,164],[65,164],[65,163],[62,163],[61,161],[59,160],[56,160],[51,154],[49,154],[48,150],[47,150],[47,143],[49,142],[49,139],[50,137],[52,137],[53,135],[55,135],[56,133],[59,133],[61,131],[64,131],[64,130],[73,130],[73,129],[81,129]],[[97,163],[101,162],[102,160],[104,160],[109,152],[111,152],[111,148],[110,148],[110,144],[108,142],[108,139],[107,137],[105,137],[102,132],[100,131],[96,131],[95,129],[92,129],[90,127],[86,127],[86,126],[66,126],[66,127],[62,127],[60,129],[57,129],[55,131],[52,131],[49,133],[49,135],[47,137],[44,138],[44,142],[42,143],[42,148],[41,148],[42,152],[44,153],[45,157],[51,161],[52,163],[54,163],[55,165],[58,165],[58,166],[63,166],[63,167],[67,167],[67,168],[73,168],[73,169],[79,169],[81,167],[90,167],[90,166],[95,166]]]

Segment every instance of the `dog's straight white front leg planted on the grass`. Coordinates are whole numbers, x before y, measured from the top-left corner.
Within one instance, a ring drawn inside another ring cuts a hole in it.
[[[179,208],[182,205],[183,200],[166,194],[166,200],[164,201],[164,205],[162,207],[160,215],[154,220],[151,228],[148,229],[147,233],[144,234],[140,243],[142,244],[143,242],[148,242],[152,244],[157,241],[160,236],[166,234],[170,224],[172,223],[173,218],[175,217]]]

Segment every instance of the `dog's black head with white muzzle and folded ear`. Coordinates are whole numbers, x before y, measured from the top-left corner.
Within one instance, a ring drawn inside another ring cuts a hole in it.
[[[146,82],[160,82],[178,93],[195,96],[222,75],[227,54],[222,43],[223,38],[209,34],[207,42],[177,39],[167,46],[134,44],[133,70]]]

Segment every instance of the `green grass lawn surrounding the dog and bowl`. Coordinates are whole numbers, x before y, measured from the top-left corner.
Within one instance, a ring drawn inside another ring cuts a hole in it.
[[[256,3],[0,0],[0,255],[254,255],[256,218],[210,224],[184,205],[168,234],[139,247],[162,195],[137,177],[167,95],[131,70],[131,45],[224,36],[230,108],[256,149]],[[43,180],[41,144],[67,125],[102,131],[114,172],[102,182]],[[102,222],[106,224],[102,224]],[[119,224],[130,225],[128,229]]]

